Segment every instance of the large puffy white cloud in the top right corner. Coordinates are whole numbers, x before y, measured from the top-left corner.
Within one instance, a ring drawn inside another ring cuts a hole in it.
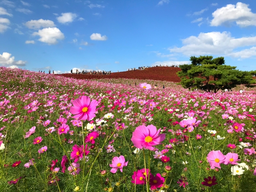
[[[251,12],[249,5],[238,2],[236,5],[228,4],[212,13],[211,26],[220,26],[236,22],[240,27],[256,26],[256,14]]]

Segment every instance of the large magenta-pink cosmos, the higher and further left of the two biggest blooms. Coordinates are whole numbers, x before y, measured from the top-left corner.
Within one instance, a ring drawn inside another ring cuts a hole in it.
[[[70,107],[70,113],[74,114],[73,118],[78,118],[78,120],[91,120],[94,118],[96,112],[96,106],[98,102],[96,100],[90,100],[88,96],[82,96],[81,99],[76,99],[73,101],[72,107]]]

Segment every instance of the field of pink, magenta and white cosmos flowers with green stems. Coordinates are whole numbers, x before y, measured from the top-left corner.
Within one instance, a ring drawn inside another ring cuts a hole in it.
[[[1,192],[255,191],[256,88],[0,77]]]

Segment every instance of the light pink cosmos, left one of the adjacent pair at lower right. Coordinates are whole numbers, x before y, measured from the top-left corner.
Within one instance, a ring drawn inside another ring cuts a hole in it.
[[[215,167],[221,168],[220,164],[224,162],[225,156],[218,151],[210,151],[206,157],[208,163],[210,163],[211,169],[214,169]]]

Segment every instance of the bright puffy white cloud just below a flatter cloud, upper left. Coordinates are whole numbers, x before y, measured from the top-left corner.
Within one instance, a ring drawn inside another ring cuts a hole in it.
[[[34,32],[32,35],[40,36],[38,40],[49,45],[56,44],[58,43],[58,40],[64,39],[64,34],[56,27],[49,27],[38,30],[38,32]]]

